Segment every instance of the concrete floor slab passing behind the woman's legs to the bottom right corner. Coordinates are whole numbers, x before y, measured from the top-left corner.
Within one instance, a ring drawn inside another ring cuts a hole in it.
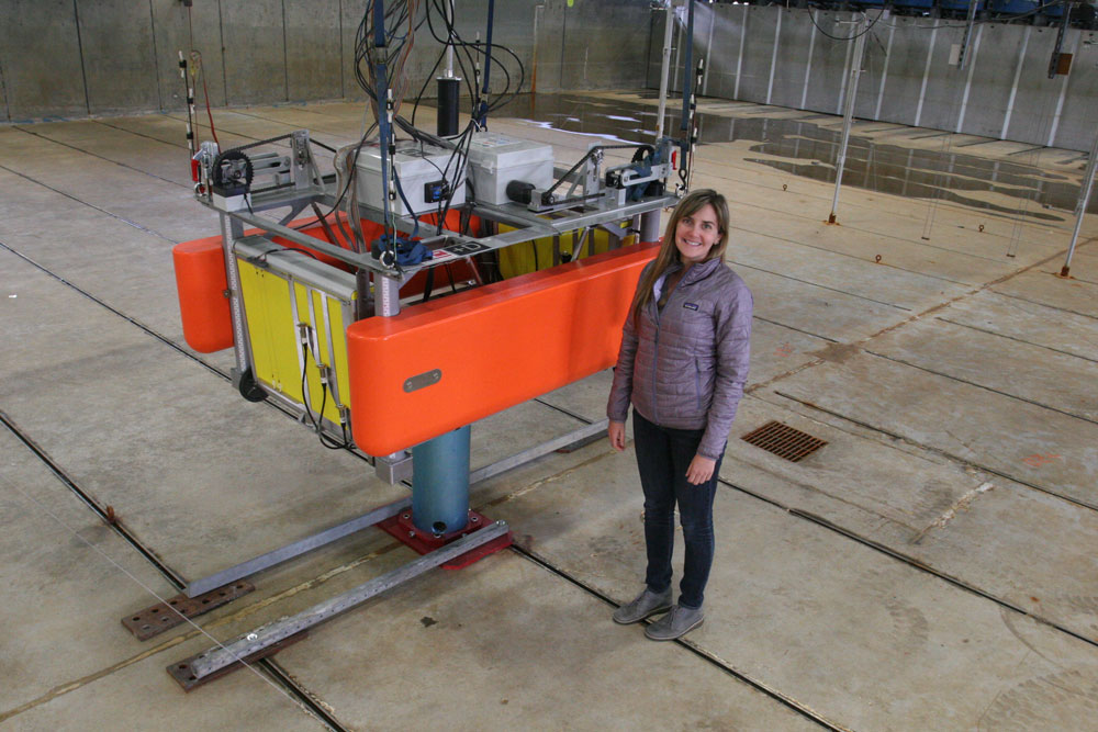
[[[643,567],[630,452],[497,507],[538,556],[617,600],[631,597]],[[797,703],[830,722],[973,728],[1005,713],[1004,697],[1039,727],[1086,717],[1094,645],[731,489],[720,491],[715,521],[707,620],[687,642],[770,688],[795,689]],[[1042,699],[1061,674],[1080,684],[1063,703]]]

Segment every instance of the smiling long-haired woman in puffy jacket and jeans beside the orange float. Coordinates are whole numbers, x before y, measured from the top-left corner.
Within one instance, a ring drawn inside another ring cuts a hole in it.
[[[648,548],[646,587],[614,620],[638,622],[670,610],[645,630],[652,640],[679,638],[703,620],[713,498],[743,395],[751,338],[751,292],[725,266],[727,246],[725,198],[712,190],[683,198],[656,260],[641,272],[606,407],[610,444],[620,451],[630,402],[634,406]],[[676,504],[686,556],[679,603],[672,605]]]

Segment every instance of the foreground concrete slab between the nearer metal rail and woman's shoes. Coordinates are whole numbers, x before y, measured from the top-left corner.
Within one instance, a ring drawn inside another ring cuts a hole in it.
[[[417,724],[494,729],[815,727],[708,662],[615,626],[610,606],[511,552],[382,601],[279,654],[356,729],[410,713]],[[625,690],[627,703],[608,703]]]

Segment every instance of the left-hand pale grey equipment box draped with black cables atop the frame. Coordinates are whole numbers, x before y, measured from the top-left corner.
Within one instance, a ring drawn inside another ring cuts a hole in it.
[[[450,150],[434,145],[424,145],[412,139],[396,143],[396,155],[389,160],[389,165],[396,170],[396,177],[404,191],[404,199],[400,192],[396,200],[390,201],[390,209],[399,216],[410,216],[430,213],[437,211],[439,205],[446,201],[450,191],[453,198],[450,199],[450,206],[459,206],[466,202],[466,179],[461,177],[455,180],[456,169],[460,160],[455,160],[450,169],[446,165],[450,162]],[[378,144],[367,145],[358,156],[358,202],[381,209],[384,205],[384,198],[389,188],[381,180],[381,153]],[[444,172],[446,173],[444,176]],[[412,211],[408,211],[408,206]]]

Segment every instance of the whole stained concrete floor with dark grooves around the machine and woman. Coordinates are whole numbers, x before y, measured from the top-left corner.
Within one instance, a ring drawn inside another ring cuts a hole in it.
[[[641,119],[646,97],[560,104]],[[841,124],[702,110],[707,124]],[[226,146],[296,127],[343,144],[360,119],[345,103],[215,114]],[[552,143],[558,161],[592,139],[493,128]],[[1085,162],[861,128],[1069,184]],[[702,628],[658,644],[610,621],[640,587],[643,539],[631,448],[603,440],[475,486],[474,508],[511,522],[518,549],[183,694],[167,665],[413,554],[369,530],[150,641],[119,622],[177,590],[89,502],[194,579],[404,493],[240,399],[228,353],[183,345],[171,245],[217,225],[191,199],[182,143],[178,115],[0,127],[0,727],[1098,729],[1098,221],[1073,280],[1054,277],[1071,212],[1001,191],[973,198],[1015,213],[844,188],[827,226],[832,187],[744,139],[704,145],[694,180],[731,201],[729,260],[757,307]],[[608,383],[478,423],[473,465],[600,418]],[[771,419],[828,444],[791,463],[738,439]]]

